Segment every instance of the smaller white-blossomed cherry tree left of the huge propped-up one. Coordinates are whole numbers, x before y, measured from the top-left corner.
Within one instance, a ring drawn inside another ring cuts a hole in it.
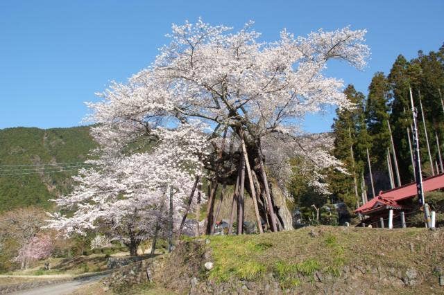
[[[99,142],[106,138],[100,127],[94,132],[100,136]],[[101,231],[121,240],[136,256],[141,242],[165,233],[169,197],[172,217],[178,224],[194,183],[191,175],[202,170],[197,154],[203,154],[200,147],[205,147],[205,136],[192,125],[157,128],[151,132],[150,141],[134,143],[133,147],[128,151],[108,143],[96,151],[100,152],[99,159],[90,161],[96,167],[80,170],[74,177],[74,191],[56,200],[60,208],[73,210],[74,215],[55,213],[48,227],[68,235]],[[149,151],[134,152],[139,150]],[[171,187],[174,191],[170,196]]]

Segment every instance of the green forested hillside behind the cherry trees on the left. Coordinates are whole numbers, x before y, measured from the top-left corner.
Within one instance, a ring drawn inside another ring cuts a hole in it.
[[[29,205],[51,207],[49,199],[67,193],[78,162],[95,146],[86,126],[0,129],[0,212]],[[74,171],[55,171],[60,169]]]

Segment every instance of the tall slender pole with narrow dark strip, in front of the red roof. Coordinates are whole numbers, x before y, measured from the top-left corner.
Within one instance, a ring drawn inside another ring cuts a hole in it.
[[[413,148],[415,150],[415,153],[413,154],[413,158],[415,159],[415,172],[416,172],[416,190],[418,194],[418,202],[420,206],[424,207],[424,217],[425,221],[427,222],[427,226],[429,229],[432,227],[432,220],[430,220],[430,213],[429,213],[429,205],[425,203],[424,199],[424,188],[422,187],[422,172],[421,172],[421,160],[420,160],[420,154],[419,154],[419,138],[418,138],[418,126],[416,124],[416,118],[418,118],[418,110],[413,105],[413,95],[410,91],[410,101],[411,101],[411,112],[413,114]]]

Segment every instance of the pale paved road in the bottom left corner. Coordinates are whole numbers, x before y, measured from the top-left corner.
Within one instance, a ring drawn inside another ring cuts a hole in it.
[[[76,291],[76,289],[87,285],[89,283],[94,283],[101,278],[105,278],[106,275],[103,276],[92,276],[89,278],[83,278],[81,280],[72,280],[70,282],[48,285],[43,287],[38,287],[35,289],[27,289],[19,292],[15,292],[12,294],[15,295],[61,295],[61,294],[71,294]]]

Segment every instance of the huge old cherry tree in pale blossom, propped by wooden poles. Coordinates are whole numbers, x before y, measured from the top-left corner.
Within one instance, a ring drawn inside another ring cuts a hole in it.
[[[283,30],[277,41],[261,42],[253,22],[237,32],[200,19],[173,25],[170,44],[151,66],[126,83],[112,83],[100,93],[100,102],[89,103],[90,118],[99,123],[93,132],[103,149],[115,151],[192,123],[206,134],[210,152],[199,156],[204,144],[194,146],[194,159],[210,171],[206,232],[214,229],[219,184],[234,185],[232,219],[237,212],[238,233],[244,222],[244,188],[253,199],[259,232],[263,221],[272,231],[289,229],[288,210],[278,208],[284,202],[266,168],[281,149],[269,153],[265,147],[291,141],[293,152],[311,163],[311,184],[325,186],[321,171],[341,165],[322,149],[312,150],[316,145],[306,144],[300,124],[328,105],[353,107],[341,91],[343,82],[323,71],[333,59],[363,68],[369,55],[365,33],[346,27],[294,37]]]

